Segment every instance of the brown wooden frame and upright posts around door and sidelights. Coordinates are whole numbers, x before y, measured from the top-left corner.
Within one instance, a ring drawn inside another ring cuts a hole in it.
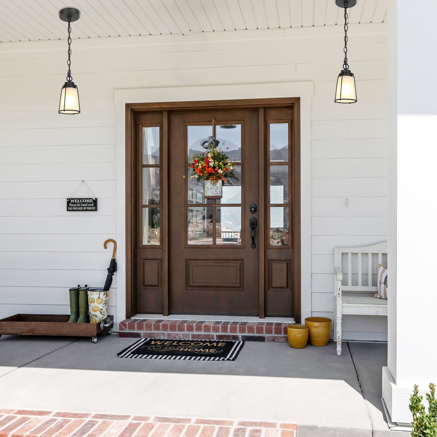
[[[161,179],[162,192],[162,215],[161,215],[161,229],[162,229],[162,244],[164,247],[163,256],[163,315],[168,316],[169,314],[169,288],[168,288],[168,184],[167,184],[167,171],[168,171],[168,155],[166,150],[168,148],[168,112],[169,111],[214,111],[216,109],[227,109],[227,110],[244,110],[244,109],[258,109],[259,114],[259,163],[260,163],[260,218],[262,221],[260,223],[260,250],[259,250],[259,316],[264,318],[264,302],[265,302],[265,223],[266,223],[266,211],[265,211],[265,198],[264,191],[267,187],[266,182],[266,166],[267,160],[265,158],[265,125],[264,120],[264,108],[293,108],[293,119],[291,125],[292,141],[291,149],[293,150],[294,165],[293,169],[293,183],[292,183],[292,205],[293,205],[293,221],[291,226],[292,241],[293,241],[293,296],[294,296],[294,318],[300,321],[301,311],[300,311],[300,135],[298,126],[300,126],[300,113],[299,113],[299,98],[276,98],[276,99],[250,99],[250,100],[221,100],[221,101],[193,101],[193,102],[170,102],[170,103],[137,103],[137,104],[126,104],[126,111],[130,111],[130,116],[126,119],[129,120],[127,123],[127,131],[131,132],[131,135],[126,135],[126,187],[129,187],[129,193],[135,193],[135,187],[137,180],[134,177],[132,163],[135,161],[133,159],[136,143],[138,138],[133,134],[137,132],[136,123],[133,121],[136,119],[136,114],[139,112],[163,112],[163,132],[161,135],[162,145],[163,145],[163,155],[161,158],[161,165],[163,166],[163,177]],[[126,199],[127,200],[127,199]],[[130,199],[132,201],[132,199]],[[165,208],[165,209],[164,209]],[[126,223],[130,226],[126,227],[126,241],[129,242],[129,257],[126,259],[126,270],[130,273],[126,279],[127,289],[131,290],[130,293],[126,293],[126,315],[133,316],[137,313],[136,305],[137,298],[135,295],[135,277],[139,274],[136,269],[136,251],[135,242],[138,239],[135,233],[135,217],[133,213],[136,211],[135,205],[132,202],[126,202]],[[262,235],[261,235],[262,233]],[[134,244],[132,244],[134,243]],[[135,261],[135,262],[132,262]]]

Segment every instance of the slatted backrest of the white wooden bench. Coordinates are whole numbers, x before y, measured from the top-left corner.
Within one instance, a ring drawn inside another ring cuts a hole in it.
[[[375,293],[378,264],[387,267],[386,241],[371,246],[334,249],[334,266],[343,273],[343,291]]]

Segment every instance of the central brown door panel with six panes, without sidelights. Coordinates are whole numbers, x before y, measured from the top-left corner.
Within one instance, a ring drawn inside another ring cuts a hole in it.
[[[236,160],[238,180],[225,182],[221,199],[205,199],[186,169],[210,135]],[[258,111],[170,114],[170,312],[259,314],[259,229],[252,248],[249,227],[258,218],[249,210],[259,205],[257,139]]]

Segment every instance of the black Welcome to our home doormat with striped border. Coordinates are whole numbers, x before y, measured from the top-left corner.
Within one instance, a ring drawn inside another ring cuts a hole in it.
[[[244,340],[157,340],[142,338],[118,352],[121,358],[156,360],[234,361]]]

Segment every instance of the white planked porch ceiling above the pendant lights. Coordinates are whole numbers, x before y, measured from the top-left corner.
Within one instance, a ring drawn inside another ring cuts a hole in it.
[[[386,20],[388,0],[357,0],[350,23]],[[0,0],[0,42],[66,39],[59,10],[76,7],[73,38],[342,25],[335,0]]]

